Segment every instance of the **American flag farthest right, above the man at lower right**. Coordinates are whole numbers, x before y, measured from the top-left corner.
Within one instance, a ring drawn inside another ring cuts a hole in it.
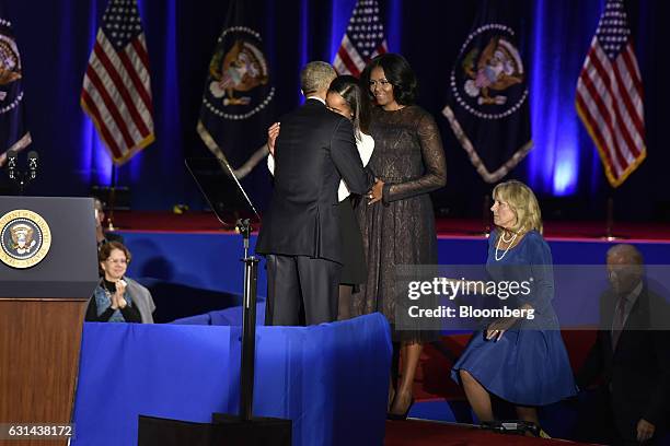
[[[643,84],[623,0],[608,0],[577,81],[577,111],[612,187],[644,161]]]

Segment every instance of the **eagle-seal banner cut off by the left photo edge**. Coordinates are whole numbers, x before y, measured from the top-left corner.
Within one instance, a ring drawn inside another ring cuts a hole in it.
[[[3,4],[0,3],[0,166],[7,151],[20,151],[31,144],[25,125],[21,55]]]

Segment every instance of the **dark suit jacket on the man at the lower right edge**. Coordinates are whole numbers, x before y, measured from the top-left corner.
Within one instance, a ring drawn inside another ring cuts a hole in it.
[[[612,320],[616,296],[600,300],[600,330],[577,375],[584,388],[601,376],[611,389],[612,411],[621,432],[645,419],[657,427],[668,421],[670,398],[670,332],[668,305],[645,285],[631,309],[616,350],[612,350]]]

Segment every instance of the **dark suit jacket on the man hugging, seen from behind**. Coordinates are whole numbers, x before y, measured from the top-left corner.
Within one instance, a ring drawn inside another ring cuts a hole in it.
[[[257,254],[309,256],[342,263],[337,187],[365,193],[363,171],[351,122],[308,99],[281,119],[276,141],[275,188],[256,243]]]

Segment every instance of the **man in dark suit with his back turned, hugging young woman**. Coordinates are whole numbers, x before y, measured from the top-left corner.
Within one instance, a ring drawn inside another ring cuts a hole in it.
[[[307,325],[337,318],[342,270],[337,187],[353,193],[373,183],[363,171],[351,122],[325,106],[336,72],[310,62],[300,74],[304,105],[281,119],[275,188],[256,253],[267,259],[266,325]]]

